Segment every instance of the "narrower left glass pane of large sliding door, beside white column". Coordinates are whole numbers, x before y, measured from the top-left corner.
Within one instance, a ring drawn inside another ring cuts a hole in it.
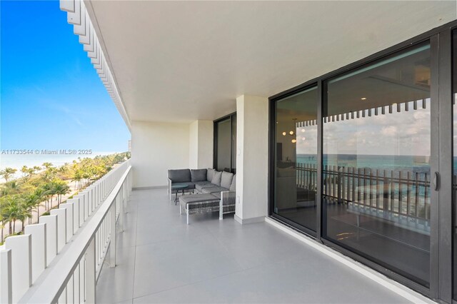
[[[316,231],[316,86],[275,103],[274,213]]]

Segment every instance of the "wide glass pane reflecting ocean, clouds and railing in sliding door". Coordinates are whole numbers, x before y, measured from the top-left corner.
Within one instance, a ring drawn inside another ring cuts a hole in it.
[[[429,44],[324,82],[323,238],[426,287]]]

